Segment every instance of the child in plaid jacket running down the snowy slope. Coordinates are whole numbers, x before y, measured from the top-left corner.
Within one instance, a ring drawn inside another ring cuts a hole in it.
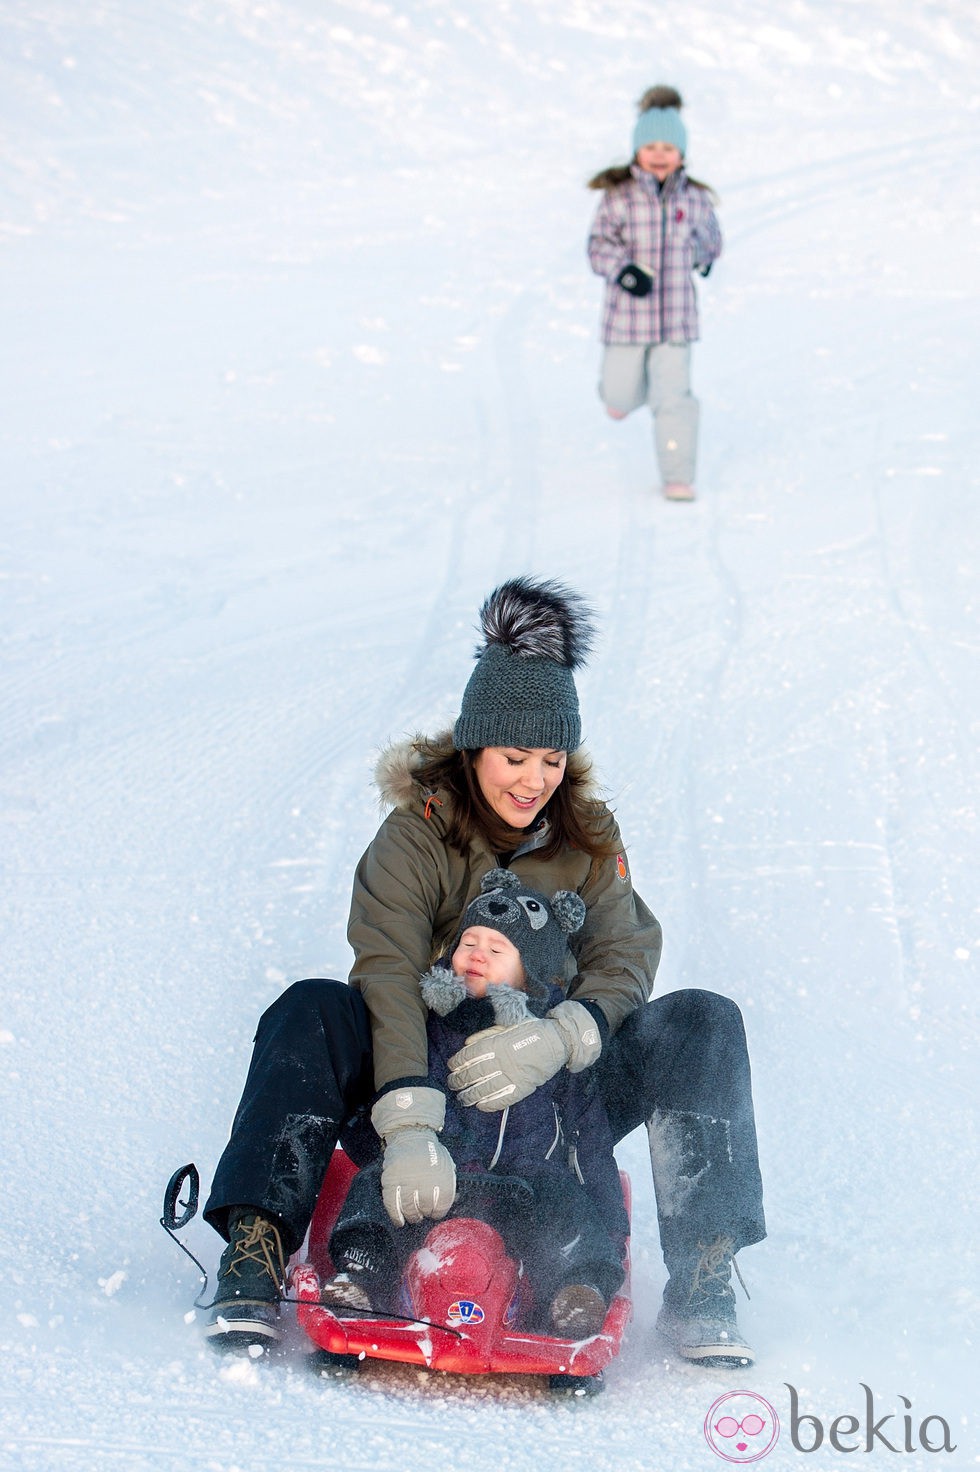
[[[664,495],[693,500],[697,399],[690,344],[699,337],[692,272],[721,255],[712,193],[684,171],[681,97],[652,87],[640,99],[633,162],[596,174],[603,190],[589,237],[592,269],[606,280],[599,394],[614,420],[646,403]]]

